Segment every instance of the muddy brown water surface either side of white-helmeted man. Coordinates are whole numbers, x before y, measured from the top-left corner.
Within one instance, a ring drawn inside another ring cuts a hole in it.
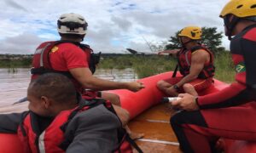
[[[132,69],[97,70],[95,76],[117,82],[130,82],[137,79]],[[29,69],[16,69],[15,73],[10,72],[9,69],[0,69],[0,112],[26,110],[27,103],[12,104],[26,96],[29,82]]]

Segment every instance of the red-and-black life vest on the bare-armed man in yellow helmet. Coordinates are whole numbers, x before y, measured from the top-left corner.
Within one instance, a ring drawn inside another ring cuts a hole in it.
[[[213,65],[213,59],[214,59],[213,54],[208,48],[205,48],[203,45],[196,46],[191,49],[182,48],[178,52],[177,65],[179,67],[180,73],[183,76],[189,75],[192,54],[193,54],[193,52],[195,52],[196,50],[199,50],[199,49],[205,50],[205,51],[207,51],[208,54],[210,54],[210,61],[204,65],[204,68],[198,75],[198,78],[206,79],[206,78],[214,76],[215,67]]]

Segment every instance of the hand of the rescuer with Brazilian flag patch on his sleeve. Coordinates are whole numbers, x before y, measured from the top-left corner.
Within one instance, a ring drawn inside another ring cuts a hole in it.
[[[172,105],[178,109],[182,109],[185,111],[197,111],[199,110],[199,106],[196,104],[196,97],[191,94],[178,94],[178,99],[176,101],[172,101]]]

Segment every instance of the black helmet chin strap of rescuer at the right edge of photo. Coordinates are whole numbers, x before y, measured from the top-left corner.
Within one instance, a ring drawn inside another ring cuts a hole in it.
[[[229,37],[229,40],[232,39],[232,32],[234,31],[234,28],[236,27],[236,24],[238,23],[238,21],[240,20],[240,18],[236,17],[235,15],[233,15],[232,20],[230,20],[231,15],[226,15],[224,17],[224,25],[227,28],[227,36]]]

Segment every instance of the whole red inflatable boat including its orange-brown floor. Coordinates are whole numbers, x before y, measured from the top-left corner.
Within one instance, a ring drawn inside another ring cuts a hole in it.
[[[172,72],[162,73],[153,77],[140,79],[145,84],[143,90],[132,93],[128,90],[113,90],[111,93],[119,94],[121,105],[130,112],[133,119],[129,126],[137,133],[144,133],[143,139],[137,144],[144,152],[180,152],[177,139],[169,124],[170,116],[174,111],[168,109],[168,104],[160,104],[163,94],[156,88],[156,82],[172,77]],[[214,81],[211,88],[200,95],[211,94],[227,87],[224,82]],[[224,149],[228,153],[256,152],[256,144],[246,141],[224,139]],[[15,134],[0,134],[0,152],[22,153],[20,140]]]

